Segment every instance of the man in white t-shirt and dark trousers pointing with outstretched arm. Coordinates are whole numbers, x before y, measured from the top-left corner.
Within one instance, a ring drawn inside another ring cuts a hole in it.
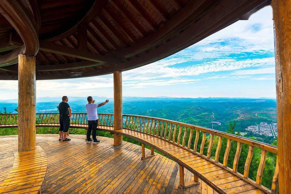
[[[109,100],[107,99],[105,100],[104,103],[100,103],[98,105],[94,104],[95,100],[92,98],[92,96],[88,96],[87,100],[88,100],[88,104],[86,104],[87,117],[88,117],[87,143],[90,143],[93,141],[93,144],[97,144],[100,142],[96,138],[96,130],[98,126],[97,108],[108,103]],[[91,140],[91,137],[90,137],[91,131],[92,131],[93,140]]]

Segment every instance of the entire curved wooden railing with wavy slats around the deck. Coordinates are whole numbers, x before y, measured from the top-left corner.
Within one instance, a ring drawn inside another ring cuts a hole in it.
[[[113,126],[113,114],[100,113],[98,116],[99,125]],[[0,120],[0,126],[17,124],[17,114],[1,114]],[[48,125],[57,124],[59,123],[59,114],[37,113],[36,123]],[[87,124],[87,114],[72,113],[71,124]],[[219,165],[220,167],[223,167],[265,191],[268,191],[269,189],[262,185],[264,167],[267,155],[273,154],[273,158],[276,158],[276,161],[273,161],[275,169],[271,175],[272,185],[268,187],[271,187],[271,190],[269,191],[272,193],[277,191],[278,147],[276,146],[205,127],[139,115],[123,114],[123,127],[125,129],[139,131],[176,144]],[[247,156],[244,156],[244,158],[246,158],[245,161],[242,161],[242,149],[248,149]],[[258,149],[260,150],[259,162],[257,160],[252,160],[254,153],[258,153]],[[235,150],[233,153],[234,157],[229,157],[232,150]],[[249,177],[249,172],[250,167],[254,167],[256,164],[258,164],[257,173],[256,177],[252,177],[255,179],[253,180]],[[241,165],[244,166],[242,173],[238,172],[238,167]]]

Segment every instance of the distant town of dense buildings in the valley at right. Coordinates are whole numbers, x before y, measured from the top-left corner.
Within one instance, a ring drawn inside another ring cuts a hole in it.
[[[277,131],[277,123],[265,123],[261,122],[260,124],[257,125],[251,125],[246,128],[247,131],[253,132],[255,134],[259,135],[265,135],[269,137],[274,137],[274,139],[277,138],[278,136],[278,131]]]

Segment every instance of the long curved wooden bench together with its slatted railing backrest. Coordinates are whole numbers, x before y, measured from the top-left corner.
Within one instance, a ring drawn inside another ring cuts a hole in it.
[[[57,114],[39,114],[41,124],[36,126],[59,127]],[[142,157],[146,159],[154,156],[153,149],[159,150],[180,165],[180,187],[186,188],[198,184],[198,178],[211,186],[219,193],[276,193],[278,191],[278,160],[272,180],[272,188],[263,186],[262,174],[266,162],[267,152],[277,155],[278,148],[269,144],[247,139],[241,136],[224,133],[208,128],[185,124],[177,121],[153,117],[123,115],[124,126],[122,130],[113,130],[113,114],[99,114],[98,130],[117,133],[142,143]],[[86,114],[74,113],[70,128],[87,128]],[[202,140],[199,140],[201,137]],[[205,142],[210,134],[207,153]],[[218,137],[215,156],[211,156],[214,136]],[[219,162],[219,154],[223,139],[227,141],[223,163]],[[187,140],[187,141],[186,141]],[[199,143],[198,143],[199,140]],[[201,141],[201,142],[200,142]],[[237,142],[237,150],[233,167],[228,167],[228,155],[232,142]],[[151,147],[151,154],[145,156],[144,145]],[[244,165],[244,173],[237,172],[242,144],[249,146],[248,156]],[[199,148],[200,149],[197,149]],[[256,180],[249,178],[249,168],[252,162],[254,147],[261,149],[261,159]],[[196,177],[192,182],[184,181],[184,168],[187,168]]]

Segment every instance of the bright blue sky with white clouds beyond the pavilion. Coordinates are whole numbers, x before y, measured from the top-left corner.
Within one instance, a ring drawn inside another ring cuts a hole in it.
[[[113,96],[113,75],[37,81],[37,97]],[[123,72],[123,96],[275,98],[272,8],[170,57]],[[0,80],[0,99],[17,98],[17,81]]]

